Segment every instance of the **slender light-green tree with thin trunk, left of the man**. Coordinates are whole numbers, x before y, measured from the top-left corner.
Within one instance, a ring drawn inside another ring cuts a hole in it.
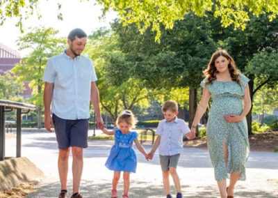
[[[12,73],[17,75],[19,82],[30,82],[28,86],[33,89],[32,98],[28,100],[36,105],[38,109],[38,128],[42,123],[42,90],[44,82],[42,75],[49,57],[54,56],[65,49],[65,39],[57,38],[58,31],[52,28],[30,29],[20,37],[17,43],[19,48],[31,50],[27,57],[12,69]]]

